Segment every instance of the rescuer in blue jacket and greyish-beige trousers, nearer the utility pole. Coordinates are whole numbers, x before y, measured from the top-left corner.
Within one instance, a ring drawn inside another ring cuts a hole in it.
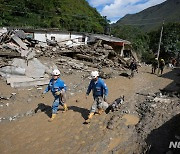
[[[98,76],[99,76],[98,71],[91,72],[92,80],[89,83],[86,92],[86,98],[92,90],[94,102],[93,105],[91,106],[90,113],[86,122],[90,122],[94,113],[96,112],[96,109],[98,109],[98,114],[101,114],[103,110],[105,110],[108,107],[108,104],[106,103],[108,96],[108,88],[105,82]]]

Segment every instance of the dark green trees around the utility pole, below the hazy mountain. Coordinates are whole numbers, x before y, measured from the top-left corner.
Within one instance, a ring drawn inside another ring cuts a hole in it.
[[[165,24],[161,43],[160,57],[169,59],[180,53],[180,23]],[[112,34],[132,42],[134,51],[142,61],[150,62],[157,53],[161,27],[156,31],[145,33],[133,26],[115,26]]]

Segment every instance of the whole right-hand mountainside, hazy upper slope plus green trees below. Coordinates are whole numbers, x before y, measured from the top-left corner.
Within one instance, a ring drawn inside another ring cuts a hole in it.
[[[180,0],[167,0],[121,18],[112,25],[112,34],[131,41],[139,57],[145,62],[150,62],[158,51],[161,26],[165,21],[160,57],[168,59],[180,52],[179,10]]]

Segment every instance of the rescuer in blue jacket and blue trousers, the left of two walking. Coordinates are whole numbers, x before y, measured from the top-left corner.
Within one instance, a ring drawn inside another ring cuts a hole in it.
[[[52,117],[49,119],[49,122],[53,121],[56,117],[58,106],[62,105],[64,111],[67,111],[66,105],[66,84],[63,80],[59,78],[60,71],[58,69],[53,70],[52,79],[49,81],[47,88],[44,90],[43,94],[46,94],[49,90],[54,96],[54,102],[52,104]]]

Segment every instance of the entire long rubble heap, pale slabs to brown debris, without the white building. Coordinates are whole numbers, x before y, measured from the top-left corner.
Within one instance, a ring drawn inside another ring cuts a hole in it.
[[[49,58],[53,62],[42,63]],[[113,48],[97,41],[92,45],[69,46],[53,40],[40,42],[30,38],[23,30],[0,30],[0,75],[11,87],[26,87],[48,83],[52,69],[65,68],[65,74],[73,70],[90,72],[98,69],[102,78],[111,78],[126,70],[128,61]],[[56,66],[56,65],[58,66]]]

